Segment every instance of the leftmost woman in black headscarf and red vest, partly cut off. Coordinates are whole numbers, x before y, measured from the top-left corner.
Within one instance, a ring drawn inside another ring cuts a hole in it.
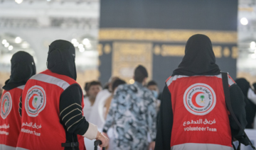
[[[0,100],[0,150],[16,149],[18,134],[21,132],[18,103],[26,82],[35,74],[36,65],[30,54],[19,51],[11,57],[11,76],[5,82]]]

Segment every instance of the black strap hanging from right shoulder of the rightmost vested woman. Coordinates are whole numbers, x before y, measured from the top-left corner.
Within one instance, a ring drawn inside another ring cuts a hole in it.
[[[223,81],[223,91],[225,95],[225,103],[227,105],[228,111],[230,112],[230,115],[233,117],[235,122],[237,123],[238,127],[242,129],[242,131],[245,134],[245,137],[248,139],[250,146],[252,146],[252,149],[255,149],[255,146],[252,145],[252,142],[250,141],[249,137],[247,137],[247,134],[245,133],[245,129],[243,129],[242,125],[238,121],[238,118],[235,117],[235,113],[233,112],[232,106],[231,106],[231,100],[230,100],[230,91],[228,86],[228,73],[227,72],[221,72],[222,81]]]

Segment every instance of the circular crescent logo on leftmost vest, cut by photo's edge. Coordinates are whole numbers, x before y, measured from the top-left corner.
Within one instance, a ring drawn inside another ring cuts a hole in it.
[[[4,93],[1,99],[1,117],[5,119],[11,112],[12,101],[11,94],[9,92]]]

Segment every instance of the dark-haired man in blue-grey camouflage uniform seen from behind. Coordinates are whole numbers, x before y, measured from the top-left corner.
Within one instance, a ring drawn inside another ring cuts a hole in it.
[[[103,132],[107,136],[107,130],[114,127],[115,150],[154,149],[147,134],[151,139],[156,137],[156,99],[144,87],[147,77],[146,68],[139,65],[134,71],[135,83],[120,85],[114,91]]]

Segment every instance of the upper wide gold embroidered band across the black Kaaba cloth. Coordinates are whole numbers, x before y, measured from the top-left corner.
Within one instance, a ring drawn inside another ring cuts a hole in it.
[[[101,28],[99,40],[141,40],[151,42],[186,42],[195,34],[204,34],[210,37],[213,43],[236,44],[236,31],[221,30],[164,30],[140,28]]]

